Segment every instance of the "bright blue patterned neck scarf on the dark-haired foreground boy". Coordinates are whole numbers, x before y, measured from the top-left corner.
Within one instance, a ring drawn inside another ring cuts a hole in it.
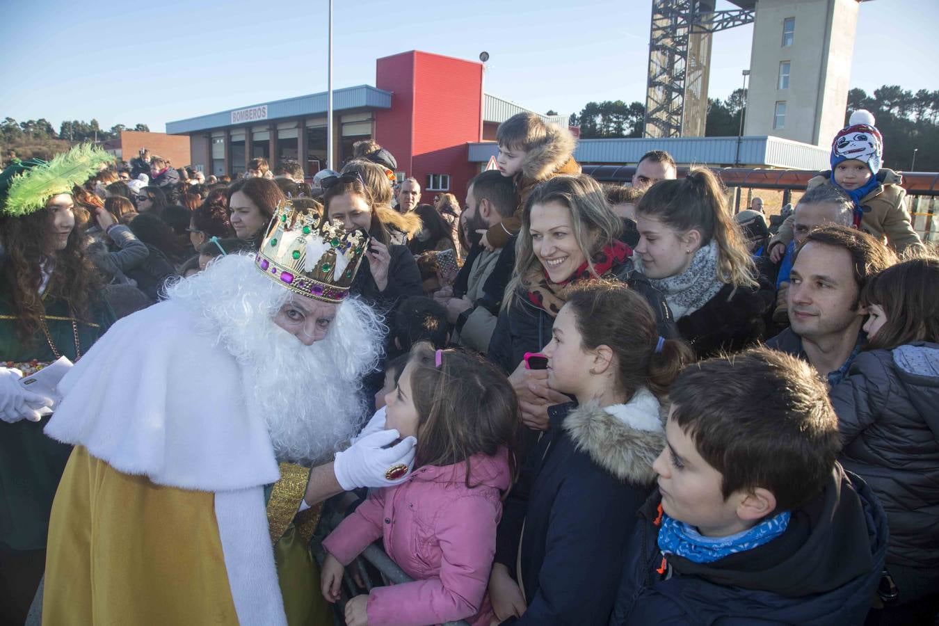
[[[789,526],[789,511],[762,521],[755,527],[728,537],[704,537],[694,527],[662,515],[658,547],[663,554],[685,557],[694,563],[713,563],[737,552],[772,542]]]

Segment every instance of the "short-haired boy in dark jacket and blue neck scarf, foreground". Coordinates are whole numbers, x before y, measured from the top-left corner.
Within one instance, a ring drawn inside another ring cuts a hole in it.
[[[836,462],[822,380],[757,348],[687,367],[670,400],[610,624],[864,623],[886,518]]]

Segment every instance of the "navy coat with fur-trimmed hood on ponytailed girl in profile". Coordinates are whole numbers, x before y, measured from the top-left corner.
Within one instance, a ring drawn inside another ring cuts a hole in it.
[[[528,603],[505,623],[602,624],[665,446],[661,406],[641,389],[625,405],[570,403],[548,415],[551,428],[506,499],[497,534],[495,560]]]

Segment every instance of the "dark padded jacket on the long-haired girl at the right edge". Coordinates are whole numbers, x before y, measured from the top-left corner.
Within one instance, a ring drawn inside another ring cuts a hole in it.
[[[887,569],[929,573],[939,587],[939,344],[860,353],[831,401],[841,463],[884,505]]]

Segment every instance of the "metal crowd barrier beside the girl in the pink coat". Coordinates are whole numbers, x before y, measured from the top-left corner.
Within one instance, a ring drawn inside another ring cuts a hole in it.
[[[326,552],[323,550],[322,542],[331,533],[331,531],[335,527],[339,526],[339,523],[343,521],[342,513],[335,511],[331,506],[329,506],[331,502],[324,504],[323,514],[319,518],[319,526],[316,527],[316,532],[314,533],[313,539],[310,542],[310,550],[313,553],[313,557],[316,558],[316,563],[320,568],[323,567],[323,561],[326,558]],[[372,584],[367,566],[371,566],[377,570],[381,576],[382,585]],[[345,624],[345,621],[339,616],[345,613],[346,602],[348,602],[353,596],[360,594],[360,591],[358,590],[359,587],[355,580],[353,580],[352,576],[349,574],[349,570],[354,570],[359,574],[359,577],[362,579],[362,583],[365,588],[365,593],[368,593],[375,587],[384,587],[390,584],[400,585],[401,583],[409,583],[414,580],[397,566],[397,564],[392,560],[392,557],[389,557],[387,554],[385,554],[384,550],[378,547],[377,542],[372,543],[362,551],[362,554],[359,555],[359,557],[357,557],[349,564],[348,567],[346,567],[346,573],[343,575],[342,594],[339,602],[336,603],[337,610],[333,613],[333,620],[336,626],[343,626],[343,624]],[[459,621],[445,622],[443,626],[469,626],[469,623],[461,619]]]

